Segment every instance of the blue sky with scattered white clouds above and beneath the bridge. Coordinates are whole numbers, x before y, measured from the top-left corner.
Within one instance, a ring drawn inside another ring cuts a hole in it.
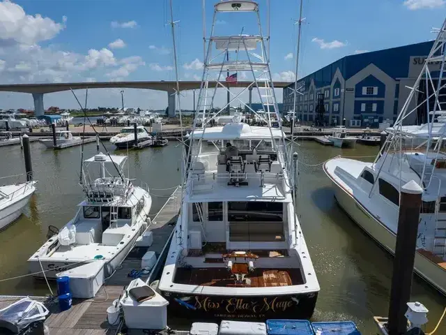
[[[216,0],[205,1],[209,34]],[[172,3],[179,78],[200,80],[202,0]],[[264,31],[267,3],[259,1]],[[304,0],[298,77],[348,54],[431,40],[431,28],[440,27],[445,10],[446,0]],[[298,0],[270,1],[275,80],[294,80],[298,17]],[[0,0],[0,84],[175,80],[170,20],[169,0]],[[237,35],[242,27],[243,34],[257,34],[253,22],[222,13],[215,32]],[[119,91],[89,91],[89,107],[120,107]],[[85,91],[76,94],[82,101]],[[276,94],[282,101],[282,90]],[[166,92],[125,89],[124,97],[126,107],[167,107]],[[180,99],[183,109],[192,109],[191,92]],[[219,92],[216,105],[224,99]],[[44,104],[78,107],[70,92],[45,94]],[[33,108],[31,94],[0,92],[0,108],[20,107]]]

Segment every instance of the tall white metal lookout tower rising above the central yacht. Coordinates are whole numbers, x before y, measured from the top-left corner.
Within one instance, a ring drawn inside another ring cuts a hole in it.
[[[215,36],[215,24],[221,13],[252,13],[256,17],[258,26],[256,34],[243,34],[243,29],[239,35],[233,36]],[[203,134],[211,119],[215,119],[222,114],[231,103],[240,103],[245,109],[259,117],[269,128],[273,122],[277,122],[279,128],[282,127],[281,118],[279,116],[279,108],[272,82],[270,71],[270,61],[266,41],[269,36],[264,37],[261,27],[261,17],[259,13],[259,5],[254,1],[221,1],[214,6],[213,24],[210,29],[210,36],[204,36],[206,51],[203,62],[203,75],[199,96],[197,100],[196,111],[192,129],[197,129],[197,124],[201,124]],[[269,42],[268,42],[269,43]],[[226,73],[232,73],[227,75]],[[240,78],[242,77],[242,78]],[[231,91],[231,87],[236,86],[238,80],[243,79],[248,82],[248,86],[240,89],[238,93]],[[235,79],[235,80],[234,80]],[[215,87],[210,87],[210,80],[215,81]],[[235,84],[231,84],[235,83]],[[220,109],[214,110],[215,114],[210,117],[213,112],[215,96],[217,89],[223,89],[229,94],[229,102],[226,102]],[[254,90],[258,95],[262,105],[263,115],[261,116],[251,105],[248,105],[242,98],[247,90]],[[202,113],[202,114],[201,114]],[[274,116],[274,117],[272,117]],[[272,131],[271,131],[272,137]],[[197,139],[197,137],[195,137]],[[198,148],[201,147],[203,137],[198,140]],[[285,135],[282,135],[281,145],[285,148]],[[275,148],[275,140],[272,140],[273,149]],[[192,143],[191,143],[192,147]],[[191,150],[190,150],[191,152]],[[192,152],[191,152],[192,154]],[[286,155],[286,153],[284,153]],[[193,168],[198,159],[197,154],[192,155],[192,159],[188,160],[187,168]],[[287,162],[285,157],[284,162]]]

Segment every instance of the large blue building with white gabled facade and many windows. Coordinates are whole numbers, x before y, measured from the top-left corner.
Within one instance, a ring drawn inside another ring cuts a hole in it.
[[[353,54],[303,77],[297,86],[302,87],[296,102],[299,118],[304,124],[316,121],[319,98],[325,107],[325,124],[341,125],[343,119],[351,127],[374,128],[383,121],[392,124],[410,93],[407,87],[413,87],[432,45],[429,41]],[[431,66],[431,70],[439,68],[438,64]],[[294,109],[293,87],[294,83],[284,88],[285,111]],[[419,91],[425,91],[424,81]],[[422,93],[418,96],[422,98]],[[415,101],[410,107],[416,107]],[[425,121],[424,109],[418,107],[407,123]]]

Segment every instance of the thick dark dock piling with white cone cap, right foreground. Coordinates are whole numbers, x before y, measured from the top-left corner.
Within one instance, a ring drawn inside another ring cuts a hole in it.
[[[397,244],[393,261],[392,288],[390,290],[389,335],[406,334],[404,313],[410,299],[415,249],[417,248],[418,222],[423,190],[411,180],[401,188],[398,215]]]

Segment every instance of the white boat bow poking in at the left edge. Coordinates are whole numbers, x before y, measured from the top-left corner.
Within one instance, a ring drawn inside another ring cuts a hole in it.
[[[0,230],[22,215],[31,195],[36,191],[36,181],[26,181],[0,186]]]

